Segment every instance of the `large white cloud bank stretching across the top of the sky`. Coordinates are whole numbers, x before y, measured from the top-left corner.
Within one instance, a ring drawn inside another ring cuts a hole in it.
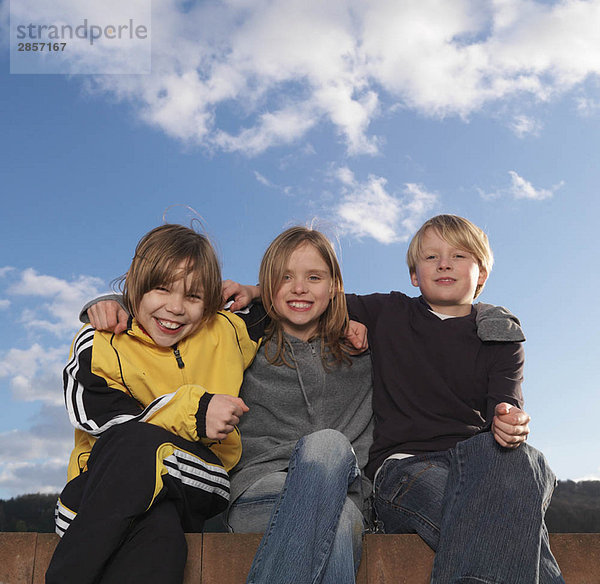
[[[374,154],[383,103],[464,118],[501,105],[535,130],[522,108],[600,74],[599,28],[600,0],[163,0],[153,73],[92,87],[208,149],[257,155],[329,124],[348,153]]]

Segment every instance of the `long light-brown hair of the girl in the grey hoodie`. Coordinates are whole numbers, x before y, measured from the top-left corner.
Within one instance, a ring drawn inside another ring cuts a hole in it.
[[[348,309],[342,272],[329,240],[319,231],[307,227],[291,227],[279,234],[269,245],[260,264],[259,283],[262,302],[271,322],[266,328],[265,355],[274,365],[293,365],[286,359],[283,325],[274,308],[275,296],[281,287],[292,253],[301,245],[312,245],[327,264],[331,275],[331,299],[325,312],[319,318],[315,336],[323,339],[321,358],[329,361],[349,361],[348,350],[342,345],[348,325]],[[274,348],[274,351],[273,351]],[[270,354],[272,352],[272,354]]]

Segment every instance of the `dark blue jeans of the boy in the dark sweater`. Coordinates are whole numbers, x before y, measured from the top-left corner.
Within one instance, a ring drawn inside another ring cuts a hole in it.
[[[386,533],[418,533],[436,552],[432,583],[564,584],[544,524],[555,483],[541,452],[486,432],[386,461],[375,513]]]

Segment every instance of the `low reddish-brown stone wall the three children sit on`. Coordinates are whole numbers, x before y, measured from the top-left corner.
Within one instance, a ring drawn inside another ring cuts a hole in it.
[[[260,538],[188,534],[183,584],[243,584]],[[57,541],[48,533],[0,533],[0,584],[43,584]],[[550,544],[567,584],[600,584],[600,533],[555,533]],[[367,535],[357,584],[429,584],[432,562],[417,535]]]

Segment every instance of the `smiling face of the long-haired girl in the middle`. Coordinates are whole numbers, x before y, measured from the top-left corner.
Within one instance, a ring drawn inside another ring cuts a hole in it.
[[[316,247],[299,245],[290,255],[273,297],[283,330],[303,341],[317,332],[332,295],[331,272]]]

